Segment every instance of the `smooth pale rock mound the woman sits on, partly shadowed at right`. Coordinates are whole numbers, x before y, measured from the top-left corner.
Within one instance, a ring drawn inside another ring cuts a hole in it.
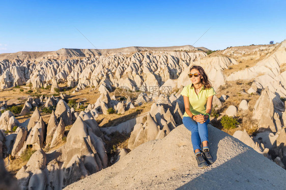
[[[208,130],[215,162],[204,170],[197,168],[191,135],[180,125],[165,138],[141,144],[115,165],[65,189],[199,189],[201,185],[205,189],[227,189],[229,184],[234,189],[283,189],[286,186],[284,169],[213,126],[208,125]]]

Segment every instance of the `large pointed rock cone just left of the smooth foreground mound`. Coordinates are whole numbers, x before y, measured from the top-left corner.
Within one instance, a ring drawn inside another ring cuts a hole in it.
[[[107,166],[103,141],[81,117],[72,125],[64,151],[64,186]]]

